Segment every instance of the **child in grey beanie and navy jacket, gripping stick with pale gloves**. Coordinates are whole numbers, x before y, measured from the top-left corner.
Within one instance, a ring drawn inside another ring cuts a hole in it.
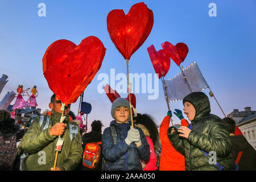
[[[141,159],[150,158],[150,146],[143,131],[131,127],[129,102],[125,98],[117,98],[112,104],[111,114],[115,120],[110,127],[114,126],[117,138],[114,143],[110,127],[104,130],[102,153],[106,159],[105,170],[142,170]]]

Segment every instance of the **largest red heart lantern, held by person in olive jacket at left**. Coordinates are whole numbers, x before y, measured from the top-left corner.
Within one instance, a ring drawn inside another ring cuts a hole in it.
[[[100,69],[105,52],[95,36],[85,38],[79,46],[62,39],[47,48],[43,57],[44,77],[63,104],[76,102]]]

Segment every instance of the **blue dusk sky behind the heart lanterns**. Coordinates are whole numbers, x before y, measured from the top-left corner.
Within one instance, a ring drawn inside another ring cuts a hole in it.
[[[102,80],[98,75],[105,73],[110,79],[110,69],[126,74],[126,61],[117,51],[109,37],[106,17],[114,9],[123,9],[127,14],[135,3],[142,1],[0,1],[0,76],[9,76],[0,101],[7,92],[16,93],[19,84],[23,88],[38,86],[36,97],[40,109],[48,109],[52,95],[43,75],[42,58],[48,46],[59,39],[80,44],[88,36],[96,36],[106,48],[101,68],[84,92],[84,101],[92,105],[88,124],[100,119],[109,126],[111,102],[105,93],[98,93]],[[196,61],[210,89],[224,113],[233,109],[256,110],[256,1],[143,1],[154,14],[154,26],[143,45],[131,56],[130,73],[155,73],[147,47],[152,44],[162,49],[163,42],[187,44],[189,52],[183,67]],[[46,5],[46,16],[39,16],[39,3]],[[216,15],[209,16],[210,3],[216,4]],[[171,60],[166,78],[179,73],[180,69]],[[117,84],[118,81],[115,81]],[[150,114],[160,125],[167,114],[167,104],[161,82],[156,85],[158,98],[148,100],[148,93],[136,93],[138,113]],[[209,89],[203,91],[209,97]],[[126,93],[119,93],[127,97]],[[27,97],[24,96],[27,100]],[[212,114],[224,117],[213,97],[209,97]],[[79,100],[71,110],[78,111]],[[14,101],[11,102],[14,104]],[[183,109],[182,101],[170,104],[171,110]],[[174,114],[173,114],[174,115]],[[184,115],[185,117],[185,115]],[[187,118],[187,117],[185,117]],[[180,123],[174,115],[174,123]]]

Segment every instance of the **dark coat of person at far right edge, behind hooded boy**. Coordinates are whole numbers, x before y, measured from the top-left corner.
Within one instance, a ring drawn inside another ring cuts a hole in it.
[[[240,171],[256,170],[256,151],[242,135],[230,136],[232,142],[233,159],[237,159],[239,151],[243,151],[238,163]]]

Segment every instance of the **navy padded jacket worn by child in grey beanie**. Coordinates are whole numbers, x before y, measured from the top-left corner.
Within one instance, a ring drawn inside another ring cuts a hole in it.
[[[116,121],[112,121],[110,123],[111,125],[114,125],[117,131],[117,141],[114,145],[113,138],[110,134],[110,127],[107,127],[102,135],[102,151],[106,159],[105,170],[142,170],[141,159],[148,160],[150,158],[150,146],[147,143],[143,131],[138,127],[134,127],[139,130],[142,144],[137,147],[133,142],[129,146],[125,143],[125,139],[127,132],[130,130],[131,122],[117,123]]]

